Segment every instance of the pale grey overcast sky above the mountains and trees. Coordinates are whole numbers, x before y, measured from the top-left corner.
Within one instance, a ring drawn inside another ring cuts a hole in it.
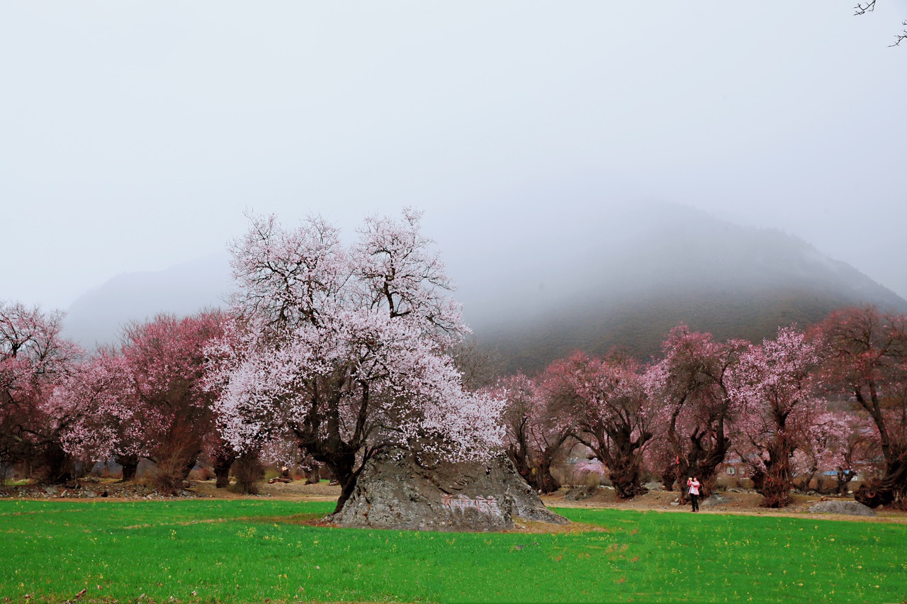
[[[853,4],[0,3],[0,300],[219,252],[244,209],[413,205],[463,248],[642,200],[907,297],[907,2]]]

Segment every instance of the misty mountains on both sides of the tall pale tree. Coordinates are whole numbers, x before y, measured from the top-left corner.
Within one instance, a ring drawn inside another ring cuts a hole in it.
[[[504,234],[474,219],[448,220],[464,234],[440,242],[459,286],[454,297],[479,343],[510,371],[536,371],[575,350],[657,355],[681,322],[720,339],[758,341],[777,326],[805,326],[854,304],[907,312],[889,289],[775,229],[673,204],[588,208],[532,200]],[[226,251],[123,274],[68,309],[65,334],[88,348],[114,342],[130,321],[223,306],[230,284]]]

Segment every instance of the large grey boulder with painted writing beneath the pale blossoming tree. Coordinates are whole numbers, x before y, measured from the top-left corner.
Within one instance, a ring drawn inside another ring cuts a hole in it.
[[[502,531],[516,518],[569,522],[545,507],[504,455],[488,463],[425,463],[392,449],[366,463],[331,520],[373,529]]]

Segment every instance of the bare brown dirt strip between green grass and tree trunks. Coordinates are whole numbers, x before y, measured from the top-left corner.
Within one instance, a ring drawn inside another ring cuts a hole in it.
[[[244,495],[229,489],[215,488],[214,481],[192,481],[187,489],[175,498],[216,498],[216,499],[276,499],[300,502],[333,502],[340,495],[340,487],[327,482],[306,484],[303,481],[262,483],[258,495]],[[551,495],[542,495],[541,500],[548,507],[563,508],[612,508],[617,510],[689,512],[689,506],[672,504],[678,498],[677,492],[650,491],[628,501],[618,499],[613,489],[600,487],[594,494],[580,501],[565,499],[569,488],[562,488]],[[171,497],[153,491],[149,486],[140,483],[121,483],[114,480],[84,479],[68,485],[24,484],[0,486],[0,499],[94,499],[101,498],[103,493],[111,501],[131,501],[136,499],[171,499]],[[751,514],[757,516],[786,516],[824,518],[829,520],[898,522],[907,524],[907,511],[875,510],[876,516],[850,516],[844,514],[812,514],[810,506],[823,499],[833,499],[821,495],[794,493],[794,502],[782,510],[770,510],[760,507],[762,496],[756,492],[727,491],[720,493],[727,503],[701,508],[706,514]],[[518,531],[538,532],[541,529],[532,522],[518,522]],[[570,529],[565,529],[570,530]],[[551,527],[546,526],[546,531]]]

